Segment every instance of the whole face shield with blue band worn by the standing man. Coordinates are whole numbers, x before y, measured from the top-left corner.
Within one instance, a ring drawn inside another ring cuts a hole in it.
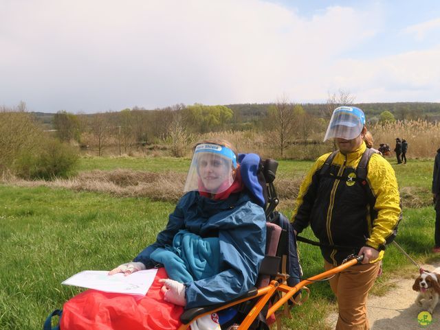
[[[335,137],[351,140],[358,137],[365,125],[365,115],[355,106],[340,106],[333,111],[324,141]]]

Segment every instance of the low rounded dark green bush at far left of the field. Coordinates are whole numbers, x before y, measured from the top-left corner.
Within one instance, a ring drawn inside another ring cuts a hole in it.
[[[56,139],[45,139],[37,150],[21,153],[14,173],[27,180],[67,178],[76,172],[78,152]]]

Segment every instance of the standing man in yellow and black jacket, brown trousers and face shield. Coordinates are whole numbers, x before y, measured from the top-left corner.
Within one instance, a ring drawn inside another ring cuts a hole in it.
[[[380,269],[386,244],[401,218],[393,167],[366,148],[365,115],[354,106],[333,111],[325,139],[338,149],[320,156],[303,181],[292,218],[295,233],[311,226],[320,240],[325,269],[356,253],[362,265],[330,279],[338,298],[336,330],[368,330],[366,299]]]

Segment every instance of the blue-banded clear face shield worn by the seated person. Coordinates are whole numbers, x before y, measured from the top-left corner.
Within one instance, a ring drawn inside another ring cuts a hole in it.
[[[236,156],[232,150],[223,145],[201,143],[192,156],[184,193],[221,193],[234,182],[235,169]]]

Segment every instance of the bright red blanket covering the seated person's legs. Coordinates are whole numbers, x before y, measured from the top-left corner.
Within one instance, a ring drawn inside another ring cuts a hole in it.
[[[174,330],[181,322],[183,307],[166,303],[160,292],[159,279],[168,275],[157,271],[146,296],[111,294],[87,290],[65,303],[61,317],[62,330]]]

